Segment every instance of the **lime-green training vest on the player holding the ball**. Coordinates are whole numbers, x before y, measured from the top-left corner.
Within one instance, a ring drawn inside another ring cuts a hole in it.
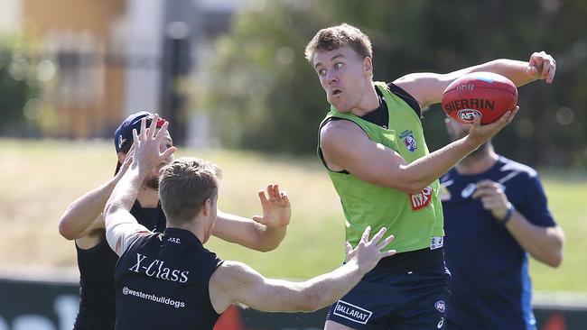
[[[358,124],[371,141],[397,151],[408,163],[428,154],[422,122],[414,109],[399,96],[391,93],[385,83],[373,84],[381,91],[387,103],[388,129],[363,120],[357,115],[342,114],[333,105],[320,128],[331,117],[343,118]],[[318,155],[322,160],[320,142]],[[326,166],[325,161],[322,162]],[[342,210],[347,218],[346,238],[352,246],[359,243],[368,225],[371,226],[372,234],[386,226],[386,235],[396,236],[387,249],[396,249],[397,252],[430,247],[433,237],[444,236],[443,207],[438,179],[419,194],[410,195],[401,190],[372,185],[347,172],[328,170],[328,174],[339,194]]]

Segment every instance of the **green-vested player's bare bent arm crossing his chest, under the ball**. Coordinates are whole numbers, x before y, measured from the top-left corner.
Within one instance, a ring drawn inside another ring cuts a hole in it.
[[[325,124],[320,145],[329,168],[336,166],[368,183],[416,194],[509,124],[516,112],[483,126],[477,117],[469,135],[409,164],[399,153],[372,142],[357,124],[346,120]]]

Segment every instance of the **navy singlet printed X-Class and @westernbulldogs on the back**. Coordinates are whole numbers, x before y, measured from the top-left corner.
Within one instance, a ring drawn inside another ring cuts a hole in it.
[[[209,282],[221,263],[187,230],[137,238],[116,264],[116,329],[212,329]]]

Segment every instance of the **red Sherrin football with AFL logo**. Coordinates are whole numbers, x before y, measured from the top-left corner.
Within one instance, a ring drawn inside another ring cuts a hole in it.
[[[443,92],[443,110],[462,124],[472,124],[475,115],[481,124],[495,122],[517,104],[517,88],[497,73],[473,72],[462,76]]]

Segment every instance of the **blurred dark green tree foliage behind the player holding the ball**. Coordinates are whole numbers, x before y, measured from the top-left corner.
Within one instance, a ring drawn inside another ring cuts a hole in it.
[[[587,3],[582,0],[271,1],[235,17],[210,67],[216,132],[228,146],[312,153],[328,109],[303,48],[323,27],[346,22],[368,33],[375,79],[449,72],[487,60],[557,60],[553,86],[519,88],[521,110],[495,139],[498,151],[531,164],[587,164]],[[447,142],[442,110],[424,119],[431,149]],[[514,156],[515,155],[515,156]]]

